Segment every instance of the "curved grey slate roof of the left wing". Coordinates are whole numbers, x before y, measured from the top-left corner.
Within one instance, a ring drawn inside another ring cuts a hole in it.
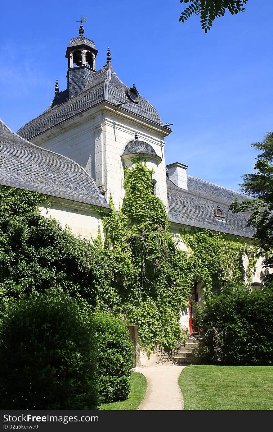
[[[110,208],[84,168],[22,139],[1,119],[0,184]]]

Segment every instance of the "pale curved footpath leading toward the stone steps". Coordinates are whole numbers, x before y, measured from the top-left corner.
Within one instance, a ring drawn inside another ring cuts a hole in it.
[[[183,410],[184,399],[178,378],[186,366],[165,364],[134,368],[147,379],[147,391],[138,410]]]

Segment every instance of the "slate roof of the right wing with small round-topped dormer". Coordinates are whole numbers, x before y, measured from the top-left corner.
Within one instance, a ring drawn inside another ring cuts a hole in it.
[[[233,198],[240,201],[249,198],[217,184],[188,177],[188,191],[177,187],[167,178],[167,194],[170,222],[198,228],[212,229],[226,234],[251,238],[254,229],[246,227],[250,213],[232,213],[229,204]],[[224,213],[224,220],[216,218],[213,209],[219,205]]]

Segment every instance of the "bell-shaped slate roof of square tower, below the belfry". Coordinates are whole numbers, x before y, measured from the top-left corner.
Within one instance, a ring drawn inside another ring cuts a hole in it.
[[[49,108],[39,117],[21,127],[18,134],[30,140],[103,101],[110,102],[113,105],[126,102],[125,105],[122,105],[124,110],[163,126],[156,109],[142,96],[139,96],[138,104],[131,102],[126,95],[126,89],[128,87],[120,81],[109,62],[109,64],[90,76],[87,86],[78,95],[66,100],[68,97],[67,90],[60,92],[53,99]]]

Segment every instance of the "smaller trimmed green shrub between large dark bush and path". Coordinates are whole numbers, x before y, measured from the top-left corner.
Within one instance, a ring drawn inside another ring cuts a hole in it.
[[[121,319],[106,312],[96,312],[94,320],[100,396],[104,403],[125,400],[130,392],[133,365],[128,328]]]

